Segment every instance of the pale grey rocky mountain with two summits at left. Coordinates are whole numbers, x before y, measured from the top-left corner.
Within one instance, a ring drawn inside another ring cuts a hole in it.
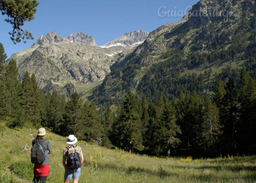
[[[131,43],[135,40],[143,41],[143,38],[133,36]],[[88,84],[103,80],[110,73],[114,60],[133,48],[101,48],[96,46],[92,36],[81,32],[70,34],[68,38],[52,32],[41,36],[31,48],[14,53],[11,58],[16,60],[21,81],[28,71],[35,74],[39,88],[45,92],[59,89],[70,95],[73,91],[82,92]]]

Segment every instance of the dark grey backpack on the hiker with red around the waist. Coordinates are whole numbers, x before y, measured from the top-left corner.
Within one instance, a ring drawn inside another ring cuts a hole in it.
[[[34,164],[42,164],[45,161],[45,153],[42,146],[43,141],[44,140],[40,140],[37,142],[37,140],[35,140],[35,144],[31,148],[31,162]]]

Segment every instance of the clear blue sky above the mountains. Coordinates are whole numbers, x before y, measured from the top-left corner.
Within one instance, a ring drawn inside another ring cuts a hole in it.
[[[0,15],[0,42],[7,56],[30,48],[40,37],[56,32],[62,37],[84,32],[94,37],[98,46],[134,30],[151,32],[166,23],[181,20],[199,0],[38,0],[35,19],[25,22],[23,30],[34,40],[14,45],[8,32],[12,25]],[[169,12],[169,14],[168,14]]]

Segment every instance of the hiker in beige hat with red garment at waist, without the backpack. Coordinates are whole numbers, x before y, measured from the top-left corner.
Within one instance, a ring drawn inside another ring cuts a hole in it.
[[[49,175],[49,154],[52,153],[52,149],[48,140],[44,140],[44,136],[47,133],[45,128],[38,129],[38,136],[32,141],[32,146],[34,144],[40,143],[42,145],[43,151],[45,152],[45,161],[42,164],[35,164],[34,166],[34,178],[33,183],[45,183],[47,176]]]

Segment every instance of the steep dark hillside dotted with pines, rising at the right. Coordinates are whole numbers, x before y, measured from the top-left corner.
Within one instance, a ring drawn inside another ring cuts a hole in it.
[[[173,99],[181,92],[213,91],[219,79],[237,80],[242,67],[252,73],[255,13],[254,0],[200,0],[181,21],[150,32],[143,44],[117,59],[91,99],[111,105],[127,91],[153,101]]]

